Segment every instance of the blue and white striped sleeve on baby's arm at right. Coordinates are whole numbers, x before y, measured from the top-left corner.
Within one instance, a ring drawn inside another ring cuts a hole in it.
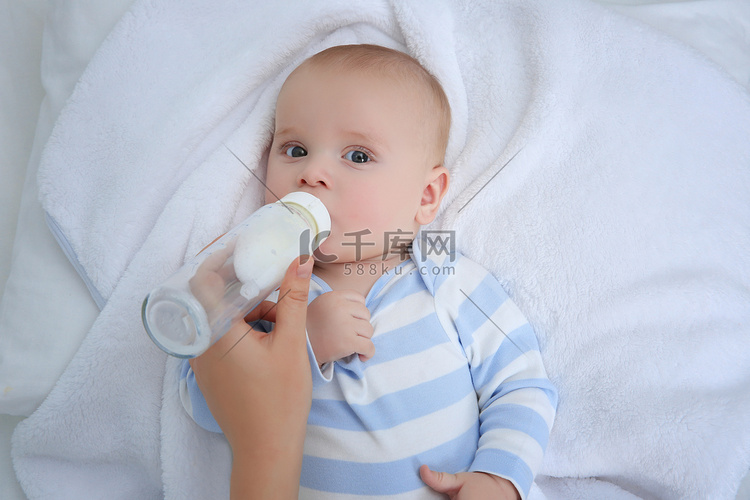
[[[497,280],[463,257],[455,275],[436,298],[454,304],[450,319],[479,402],[479,446],[469,470],[508,479],[526,498],[547,447],[557,391],[533,329]]]

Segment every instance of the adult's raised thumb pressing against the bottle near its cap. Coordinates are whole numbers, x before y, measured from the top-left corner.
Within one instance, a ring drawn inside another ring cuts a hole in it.
[[[292,262],[279,287],[279,300],[276,311],[275,334],[290,340],[304,339],[307,318],[307,295],[310,291],[313,259],[303,255]],[[300,335],[294,335],[295,332]]]

